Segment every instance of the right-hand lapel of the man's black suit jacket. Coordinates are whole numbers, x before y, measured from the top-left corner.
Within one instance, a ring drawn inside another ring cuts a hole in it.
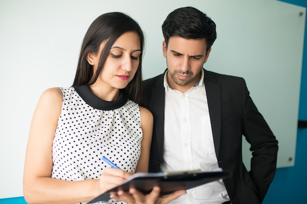
[[[211,128],[215,147],[216,157],[219,158],[220,139],[221,139],[221,87],[217,79],[205,70],[205,89],[208,100]]]

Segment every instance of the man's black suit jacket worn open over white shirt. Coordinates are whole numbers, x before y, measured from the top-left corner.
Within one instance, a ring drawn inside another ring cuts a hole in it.
[[[219,167],[229,170],[224,183],[232,204],[260,204],[272,182],[278,141],[252,101],[245,80],[205,71],[205,89]],[[163,162],[164,73],[144,81],[144,106],[153,113],[150,172]],[[242,136],[251,144],[251,170],[242,161]]]

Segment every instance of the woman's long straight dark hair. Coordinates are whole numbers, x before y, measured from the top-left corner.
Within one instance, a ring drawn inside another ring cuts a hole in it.
[[[124,13],[112,12],[99,16],[88,28],[80,50],[79,61],[73,86],[92,85],[97,80],[105,60],[109,54],[111,46],[124,33],[135,31],[139,35],[141,44],[141,54],[139,67],[128,86],[124,89],[127,97],[142,105],[142,54],[145,44],[144,34],[139,24]],[[93,66],[90,65],[86,57],[88,53],[97,54],[103,41],[106,41],[102,49],[101,59],[95,75],[93,76]]]

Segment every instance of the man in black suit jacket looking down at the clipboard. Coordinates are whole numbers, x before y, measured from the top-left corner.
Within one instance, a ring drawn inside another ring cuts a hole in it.
[[[215,23],[193,7],[174,10],[162,25],[166,71],[144,81],[154,117],[150,172],[222,168],[229,179],[187,191],[179,204],[260,204],[276,171],[278,141],[253,103],[243,78],[203,68]],[[251,171],[242,162],[251,144]]]

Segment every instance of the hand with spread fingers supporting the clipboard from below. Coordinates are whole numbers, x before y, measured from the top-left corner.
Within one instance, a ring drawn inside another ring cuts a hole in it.
[[[128,204],[167,204],[185,193],[185,190],[179,190],[159,197],[160,188],[155,186],[153,187],[152,192],[147,195],[142,194],[135,188],[130,188],[129,192],[120,190],[117,192],[117,194],[111,193],[110,198],[118,201],[124,201]]]

